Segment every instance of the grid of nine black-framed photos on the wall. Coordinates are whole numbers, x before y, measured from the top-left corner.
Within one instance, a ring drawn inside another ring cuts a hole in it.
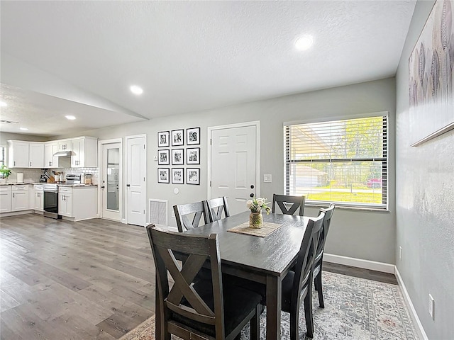
[[[200,145],[200,128],[157,132],[157,183],[200,184],[200,147],[194,145]]]

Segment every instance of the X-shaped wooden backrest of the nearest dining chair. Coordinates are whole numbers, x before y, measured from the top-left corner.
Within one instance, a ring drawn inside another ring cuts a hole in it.
[[[153,228],[153,225],[147,227],[147,232],[155,258],[157,285],[159,293],[162,294],[160,296],[164,308],[217,327],[218,317],[223,319],[221,258],[217,235],[210,234],[206,237],[175,233]],[[175,259],[175,251],[188,254],[187,260],[180,264]],[[206,259],[210,259],[211,263],[214,310],[206,304],[192,285]],[[170,290],[167,271],[174,280]]]

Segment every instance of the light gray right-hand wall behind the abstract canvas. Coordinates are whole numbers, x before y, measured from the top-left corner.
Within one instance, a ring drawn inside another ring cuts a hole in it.
[[[397,268],[428,339],[454,339],[454,131],[409,147],[408,60],[433,1],[418,1],[397,71]],[[436,112],[430,113],[436,115]],[[398,253],[397,253],[398,254]],[[428,314],[428,294],[436,303]]]

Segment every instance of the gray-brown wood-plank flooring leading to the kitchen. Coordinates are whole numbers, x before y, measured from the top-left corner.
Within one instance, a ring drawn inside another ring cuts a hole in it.
[[[145,228],[41,215],[0,220],[0,339],[118,339],[155,312]],[[392,274],[323,269],[397,284]]]

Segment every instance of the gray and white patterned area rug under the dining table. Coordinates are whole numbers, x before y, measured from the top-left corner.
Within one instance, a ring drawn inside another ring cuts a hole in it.
[[[353,276],[323,272],[325,308],[314,290],[314,340],[419,340],[399,286]],[[301,305],[300,339],[306,324]],[[266,339],[266,309],[260,316],[260,339]],[[179,339],[172,337],[172,339]],[[242,340],[249,339],[248,326]],[[281,339],[290,339],[289,314],[281,314]],[[155,340],[155,317],[121,337],[121,340]]]

